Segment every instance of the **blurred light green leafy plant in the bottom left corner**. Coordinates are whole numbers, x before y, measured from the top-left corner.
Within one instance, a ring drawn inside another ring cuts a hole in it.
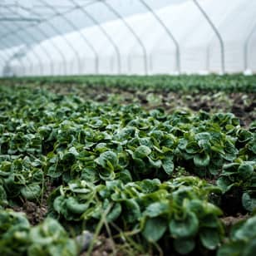
[[[73,256],[78,254],[78,244],[55,219],[47,218],[31,227],[24,214],[0,210],[0,252],[10,256]]]

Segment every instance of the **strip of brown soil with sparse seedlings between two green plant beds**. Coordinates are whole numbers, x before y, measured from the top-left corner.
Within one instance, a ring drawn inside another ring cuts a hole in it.
[[[84,99],[100,102],[115,101],[119,104],[139,103],[145,109],[162,107],[165,111],[188,108],[191,111],[231,112],[239,117],[241,126],[249,126],[256,120],[256,94],[244,92],[173,92],[138,89],[119,89],[104,86],[82,86],[77,84],[42,85],[57,94],[76,94]]]

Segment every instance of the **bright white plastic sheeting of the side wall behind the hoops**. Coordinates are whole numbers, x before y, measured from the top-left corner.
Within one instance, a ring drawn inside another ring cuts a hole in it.
[[[198,2],[223,39],[224,71],[242,72],[247,69],[255,72],[256,1]],[[103,5],[102,2],[96,4]],[[111,5],[111,1],[108,4]],[[141,7],[145,8],[142,3]],[[86,11],[90,12],[90,7]],[[123,19],[107,7],[106,12],[111,13],[112,19],[101,23],[102,28],[96,24],[44,39],[28,46],[18,58],[13,55],[21,51],[20,47],[0,50],[1,60],[7,60],[0,62],[0,72],[5,75],[39,76],[173,74],[179,71],[177,47],[152,12],[145,8],[145,12]],[[219,38],[194,1],[170,1],[169,5],[154,9],[154,12],[179,44],[181,73],[222,71]],[[123,16],[122,12],[118,14]],[[118,52],[113,44],[118,47]]]

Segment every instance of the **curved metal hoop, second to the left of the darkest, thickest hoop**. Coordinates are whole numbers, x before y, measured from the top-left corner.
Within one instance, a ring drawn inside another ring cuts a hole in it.
[[[121,14],[119,12],[117,12],[114,7],[112,7],[108,2],[105,2],[105,1],[102,1],[102,0],[99,0],[99,2],[102,2],[112,13],[114,13],[116,15],[116,17],[118,17],[121,20],[121,22],[123,22],[125,27],[128,28],[128,30],[131,32],[131,34],[135,37],[136,41],[139,43],[139,45],[141,47],[141,50],[143,52],[143,62],[144,62],[144,68],[145,68],[145,75],[147,75],[148,74],[147,52],[146,52],[146,49],[145,49],[145,45],[140,40],[140,37],[136,34],[135,30],[130,26],[130,24],[128,22],[126,22],[126,19],[124,19],[124,17],[122,17]]]

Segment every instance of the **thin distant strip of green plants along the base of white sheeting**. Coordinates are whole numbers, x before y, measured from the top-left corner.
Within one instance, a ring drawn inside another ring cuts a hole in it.
[[[5,80],[5,82],[8,80]],[[106,86],[123,89],[155,89],[156,91],[256,91],[256,76],[234,75],[155,75],[155,76],[42,76],[11,78],[12,83],[32,82],[37,85],[47,83],[83,84],[86,86]]]

